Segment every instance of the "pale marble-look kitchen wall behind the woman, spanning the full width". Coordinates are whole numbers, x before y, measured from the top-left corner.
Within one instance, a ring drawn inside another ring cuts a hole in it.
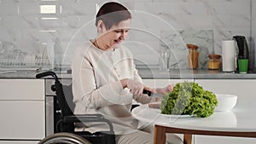
[[[0,0],[0,47],[3,48],[6,45],[4,43],[11,43],[9,45],[12,46],[12,50],[0,48],[0,56],[6,58],[4,52],[20,49],[26,60],[43,59],[44,54],[47,53],[46,49],[54,48],[55,58],[62,61],[62,64],[69,65],[76,46],[96,37],[94,26],[96,9],[106,2],[106,0]],[[183,50],[186,49],[184,47],[176,49],[181,47],[177,44],[181,39],[176,44],[171,43],[174,34],[170,33],[168,27],[162,26],[163,23],[177,30],[184,43],[199,45],[200,68],[206,67],[208,54],[221,54],[222,40],[230,39],[233,35],[244,35],[250,40],[252,29],[255,29],[251,23],[255,21],[251,14],[253,0],[151,0],[147,3],[145,0],[118,0],[118,2],[123,3],[131,11],[143,13],[142,16],[133,15],[132,26],[146,30],[150,34],[131,32],[127,43],[132,45],[131,51],[134,57],[148,66],[159,65],[159,57],[155,55],[158,55],[164,46],[160,42],[167,43],[170,49],[177,51],[175,52],[177,58],[172,60],[173,68],[178,67],[177,61],[180,67],[185,66],[186,56]],[[44,11],[44,6],[47,5],[51,6],[50,13]],[[163,22],[160,23],[160,20]],[[9,54],[9,57],[13,58],[15,55]]]

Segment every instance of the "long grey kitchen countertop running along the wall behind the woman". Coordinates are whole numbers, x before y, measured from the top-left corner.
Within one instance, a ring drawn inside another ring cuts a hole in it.
[[[44,71],[40,71],[44,72]],[[59,78],[71,78],[67,71],[55,71]],[[256,79],[256,72],[247,74],[219,72],[210,70],[170,70],[160,72],[158,68],[139,68],[138,72],[144,79]],[[36,78],[37,71],[0,71],[0,78]],[[50,78],[50,77],[48,77]]]

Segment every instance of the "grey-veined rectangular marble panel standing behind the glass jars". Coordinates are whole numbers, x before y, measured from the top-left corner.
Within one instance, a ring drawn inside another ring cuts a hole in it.
[[[181,69],[188,67],[187,43],[198,46],[199,61],[198,69],[207,68],[208,55],[213,53],[213,31],[212,30],[180,30],[161,32],[162,42],[160,49],[171,51],[169,67]]]

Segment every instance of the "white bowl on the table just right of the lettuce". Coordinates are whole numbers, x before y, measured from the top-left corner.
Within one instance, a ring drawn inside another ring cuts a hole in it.
[[[216,94],[218,106],[215,111],[229,111],[236,106],[237,95]]]

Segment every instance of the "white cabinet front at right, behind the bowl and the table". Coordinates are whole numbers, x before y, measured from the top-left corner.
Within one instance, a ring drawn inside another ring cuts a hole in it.
[[[245,99],[256,96],[256,79],[195,79],[195,82],[201,84],[203,89],[210,90],[215,94],[238,95],[236,105],[245,103]],[[255,107],[255,106],[252,106]],[[236,107],[234,107],[236,110]],[[246,116],[245,116],[246,117]],[[256,139],[229,137],[229,136],[210,136],[195,135],[195,144],[255,144]]]

